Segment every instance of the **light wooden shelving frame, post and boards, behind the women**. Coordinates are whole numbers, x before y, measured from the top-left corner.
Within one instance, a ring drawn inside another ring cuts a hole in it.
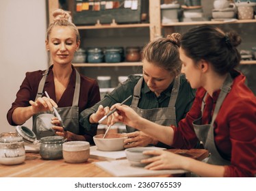
[[[72,3],[72,2],[71,2]],[[129,28],[145,28],[149,29],[149,40],[153,40],[154,38],[157,38],[158,36],[162,35],[162,31],[164,31],[165,34],[170,34],[175,32],[175,27],[183,27],[183,26],[193,26],[193,25],[239,25],[239,24],[245,24],[245,23],[253,23],[255,25],[256,20],[229,20],[229,21],[200,21],[200,22],[179,22],[179,23],[171,23],[168,25],[162,25],[161,24],[161,9],[160,9],[160,0],[149,0],[149,23],[136,23],[136,24],[123,24],[123,25],[90,25],[90,26],[77,26],[77,28],[82,32],[86,30],[102,30],[102,29],[129,29]],[[53,20],[51,12],[53,10],[59,8],[58,0],[48,0],[49,5],[49,22]],[[256,27],[256,25],[255,25]],[[105,44],[103,45],[105,46]],[[256,61],[241,61],[242,65],[255,65]],[[77,69],[84,70],[83,68],[89,68],[90,71],[95,68],[95,74],[97,75],[97,72],[101,70],[101,68],[106,68],[106,70],[110,70],[110,68],[114,68],[113,70],[116,70],[116,68],[119,68],[118,70],[127,70],[127,68],[131,67],[139,67],[142,68],[141,62],[122,62],[122,63],[74,63],[73,64]],[[84,70],[84,71],[87,71]]]

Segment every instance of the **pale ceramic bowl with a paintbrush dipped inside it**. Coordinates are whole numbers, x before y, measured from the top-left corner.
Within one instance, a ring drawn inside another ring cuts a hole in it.
[[[124,141],[126,134],[97,134],[93,137],[93,141],[97,148],[101,151],[120,151],[124,149]]]

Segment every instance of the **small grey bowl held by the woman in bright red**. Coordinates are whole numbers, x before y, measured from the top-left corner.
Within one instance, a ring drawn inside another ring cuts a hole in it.
[[[141,163],[140,161],[142,159],[151,158],[151,155],[144,155],[143,151],[151,151],[160,149],[157,147],[133,147],[129,149],[125,149],[125,154],[127,157],[127,160],[129,160],[130,164],[132,166],[146,166],[145,163]]]

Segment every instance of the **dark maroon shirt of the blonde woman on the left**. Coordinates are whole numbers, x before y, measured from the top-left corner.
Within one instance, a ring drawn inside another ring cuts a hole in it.
[[[47,76],[47,80],[44,84],[44,91],[47,91],[50,98],[52,98],[55,102],[55,86],[54,86],[54,80],[53,80],[53,71],[52,71],[53,65],[49,68],[49,73]],[[66,107],[66,106],[72,106],[73,103],[73,95],[75,91],[75,68],[73,67],[73,72],[71,74],[71,79],[68,83],[68,86],[66,87],[66,90],[64,91],[62,98],[60,98],[59,102],[57,103],[58,107]],[[44,70],[45,71],[45,70]],[[16,94],[16,100],[12,103],[12,107],[7,113],[7,119],[11,126],[17,126],[21,124],[16,124],[14,121],[12,121],[12,113],[15,108],[17,107],[27,107],[30,106],[29,100],[35,100],[36,94],[38,92],[38,85],[40,83],[40,80],[42,78],[42,74],[44,74],[44,71],[38,70],[34,72],[27,72],[25,79],[23,80],[23,83],[21,84],[20,89],[18,90],[18,93]],[[79,113],[81,111],[84,111],[86,108],[90,108],[94,106],[100,98],[99,93],[99,85],[97,84],[97,81],[88,78],[86,76],[82,76],[80,74],[80,93],[79,93]],[[89,141],[90,143],[93,143],[92,137],[97,133],[97,128],[92,128],[90,131],[86,131],[83,126],[79,126],[79,130],[81,135],[84,135],[86,138],[86,141]]]

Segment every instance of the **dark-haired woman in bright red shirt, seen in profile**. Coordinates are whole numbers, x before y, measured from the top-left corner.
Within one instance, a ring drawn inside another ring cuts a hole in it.
[[[246,78],[235,70],[240,63],[235,32],[202,25],[181,38],[182,72],[196,88],[196,98],[186,115],[174,126],[159,126],[138,116],[127,106],[114,105],[112,123],[121,121],[159,141],[179,149],[191,149],[199,141],[209,150],[209,160],[201,162],[166,151],[146,151],[155,155],[143,160],[145,168],[184,169],[201,177],[255,177],[256,98],[245,85]]]

